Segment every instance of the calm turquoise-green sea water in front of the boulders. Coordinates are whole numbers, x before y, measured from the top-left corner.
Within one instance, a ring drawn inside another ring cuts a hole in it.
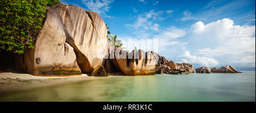
[[[0,93],[0,101],[255,101],[255,71],[102,77]]]

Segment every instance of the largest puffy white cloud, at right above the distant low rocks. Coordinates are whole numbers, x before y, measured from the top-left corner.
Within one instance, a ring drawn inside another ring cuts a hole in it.
[[[187,49],[197,55],[191,57],[185,53],[187,55],[183,56],[189,62],[196,63],[192,58],[198,61],[214,58],[220,65],[255,67],[255,25],[235,25],[233,20],[226,18],[209,24],[199,21],[191,26],[186,37]],[[212,61],[198,63],[204,66],[217,65]]]

